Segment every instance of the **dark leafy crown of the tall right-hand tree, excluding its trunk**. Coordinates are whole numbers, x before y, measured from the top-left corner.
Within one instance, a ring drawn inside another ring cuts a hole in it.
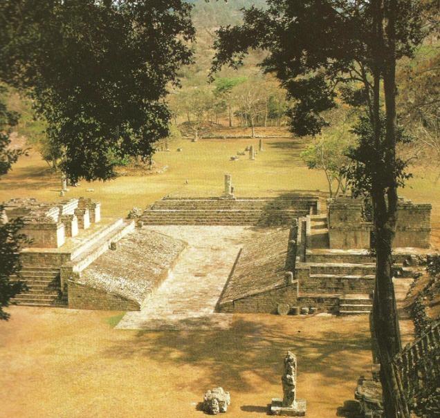
[[[288,111],[292,131],[301,136],[317,135],[328,125],[322,112],[336,105],[336,87],[354,80],[369,82],[363,71],[369,73],[374,64],[372,55],[377,41],[372,2],[267,3],[267,10],[245,10],[243,24],[217,31],[212,72],[226,64],[238,68],[249,48],[267,50],[268,55],[262,60],[264,70],[277,75],[294,102]],[[417,1],[399,1],[397,20],[405,24],[399,23],[397,28],[397,58],[412,55],[419,44],[423,35],[420,8]],[[354,99],[351,95],[347,101]]]

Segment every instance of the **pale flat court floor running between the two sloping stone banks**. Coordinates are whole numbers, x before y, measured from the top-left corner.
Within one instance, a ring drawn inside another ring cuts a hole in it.
[[[118,329],[197,330],[227,328],[230,314],[214,314],[232,265],[250,227],[149,227],[188,243],[172,274],[140,312],[127,312]]]

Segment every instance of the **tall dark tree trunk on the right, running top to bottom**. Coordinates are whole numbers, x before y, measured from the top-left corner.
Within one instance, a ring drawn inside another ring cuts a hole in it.
[[[394,286],[392,282],[392,242],[396,230],[397,182],[396,167],[396,58],[395,17],[396,0],[384,6],[382,0],[374,1],[376,30],[376,66],[374,68],[373,117],[375,147],[384,154],[386,169],[380,170],[372,179],[372,202],[374,211],[374,233],[376,250],[376,285],[373,302],[374,337],[381,362],[381,383],[385,417],[409,418],[405,398],[398,388],[392,369],[392,358],[401,350],[398,316]],[[387,43],[383,33],[383,13],[387,17]],[[383,74],[385,90],[385,140],[381,144],[381,120],[379,88]]]

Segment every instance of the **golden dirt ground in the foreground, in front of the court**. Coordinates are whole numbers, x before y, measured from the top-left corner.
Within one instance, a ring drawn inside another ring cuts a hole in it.
[[[0,323],[0,417],[203,417],[203,392],[230,390],[228,416],[263,417],[298,358],[307,417],[336,417],[371,362],[366,316],[237,315],[230,330],[114,330],[120,312],[12,307]]]

